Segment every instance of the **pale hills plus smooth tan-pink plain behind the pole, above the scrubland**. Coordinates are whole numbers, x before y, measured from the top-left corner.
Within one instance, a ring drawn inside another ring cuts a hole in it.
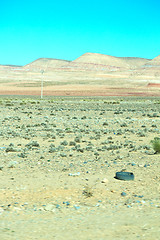
[[[86,53],[74,61],[40,58],[0,65],[0,94],[160,95],[160,55],[154,59]]]

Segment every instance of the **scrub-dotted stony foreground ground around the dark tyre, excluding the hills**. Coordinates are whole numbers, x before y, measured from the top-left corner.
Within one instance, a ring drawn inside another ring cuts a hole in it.
[[[1,96],[0,239],[158,240],[155,137],[159,97]]]

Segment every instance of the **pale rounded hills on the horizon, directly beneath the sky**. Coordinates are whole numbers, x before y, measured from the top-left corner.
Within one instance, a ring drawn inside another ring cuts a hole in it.
[[[139,57],[115,57],[100,53],[85,53],[78,57],[73,61],[63,60],[63,59],[55,59],[55,58],[39,58],[35,61],[28,63],[24,66],[19,65],[0,65],[1,67],[22,67],[23,69],[40,69],[40,68],[49,68],[50,70],[53,68],[86,68],[86,65],[89,64],[89,68],[91,66],[99,65],[123,69],[136,69],[142,66],[147,66],[153,63],[153,65],[157,65],[157,62],[160,62],[160,55],[154,59],[146,59],[146,58],[139,58]]]

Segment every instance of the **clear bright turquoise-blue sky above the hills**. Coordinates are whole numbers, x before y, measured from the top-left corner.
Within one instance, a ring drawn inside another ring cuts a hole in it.
[[[2,0],[0,64],[160,55],[159,0]]]

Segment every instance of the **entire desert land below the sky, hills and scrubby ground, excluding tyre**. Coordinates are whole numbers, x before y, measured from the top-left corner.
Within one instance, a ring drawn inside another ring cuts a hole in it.
[[[160,238],[159,57],[80,58],[1,66],[2,240]]]

